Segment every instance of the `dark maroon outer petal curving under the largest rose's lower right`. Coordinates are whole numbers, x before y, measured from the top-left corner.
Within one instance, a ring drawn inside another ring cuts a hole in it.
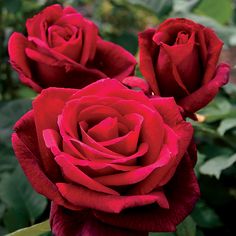
[[[165,189],[169,209],[149,205],[126,210],[120,214],[95,212],[98,219],[127,229],[150,232],[171,232],[192,211],[199,198],[199,187],[189,157],[179,165],[173,179]]]

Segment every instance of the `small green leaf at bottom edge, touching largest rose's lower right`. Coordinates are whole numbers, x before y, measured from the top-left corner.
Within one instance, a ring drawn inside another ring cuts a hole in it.
[[[177,226],[177,236],[196,236],[196,223],[191,216],[185,218],[185,220]]]

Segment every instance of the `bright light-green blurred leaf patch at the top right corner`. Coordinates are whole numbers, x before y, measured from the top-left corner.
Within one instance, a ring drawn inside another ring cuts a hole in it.
[[[209,16],[221,24],[227,24],[233,15],[233,3],[231,0],[204,0],[200,2],[194,12]]]

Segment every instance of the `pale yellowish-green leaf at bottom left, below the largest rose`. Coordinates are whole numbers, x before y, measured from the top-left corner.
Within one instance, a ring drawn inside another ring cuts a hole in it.
[[[6,236],[41,236],[42,234],[50,232],[49,221],[46,220],[40,224],[33,225],[28,228],[19,229]]]

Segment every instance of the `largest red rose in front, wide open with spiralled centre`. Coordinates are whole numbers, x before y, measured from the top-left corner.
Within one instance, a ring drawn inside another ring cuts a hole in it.
[[[113,79],[48,88],[14,129],[26,176],[53,201],[55,235],[175,231],[199,197],[193,128],[173,98],[148,98]]]

